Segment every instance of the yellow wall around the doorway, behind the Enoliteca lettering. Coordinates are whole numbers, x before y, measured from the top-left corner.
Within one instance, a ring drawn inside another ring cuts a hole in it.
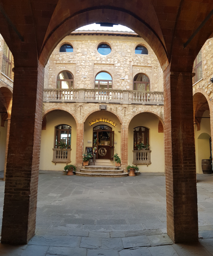
[[[91,122],[92,120],[94,120],[95,118],[107,118],[107,119],[111,119],[113,120],[117,125],[114,127],[109,123],[105,123],[105,122],[98,122],[93,124],[92,126],[89,124],[89,122]],[[118,118],[110,113],[109,111],[97,111],[92,113],[86,120],[86,122],[84,123],[84,145],[83,145],[83,150],[85,151],[86,147],[92,147],[93,144],[92,143],[87,143],[88,140],[93,140],[93,127],[95,126],[99,126],[99,125],[107,125],[109,127],[112,128],[112,130],[115,131],[115,138],[114,141],[117,142],[117,144],[114,144],[115,148],[114,148],[114,154],[118,153],[119,157],[121,157],[121,124],[118,120]],[[83,152],[84,152],[83,151]],[[122,159],[121,159],[122,161]]]

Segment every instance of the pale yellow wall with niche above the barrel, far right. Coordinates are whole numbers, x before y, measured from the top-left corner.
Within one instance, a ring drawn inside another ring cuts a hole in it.
[[[203,117],[210,117],[209,110],[203,113]],[[196,155],[196,172],[203,173],[202,159],[209,159],[210,146],[209,138],[211,137],[210,118],[201,118],[201,129],[197,131],[195,124],[195,155]]]

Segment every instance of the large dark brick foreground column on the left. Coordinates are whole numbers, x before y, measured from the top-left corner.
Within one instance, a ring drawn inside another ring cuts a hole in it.
[[[44,68],[14,68],[1,242],[26,244],[34,235]]]

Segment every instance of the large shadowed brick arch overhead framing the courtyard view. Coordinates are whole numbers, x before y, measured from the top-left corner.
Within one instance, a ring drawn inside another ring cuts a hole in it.
[[[107,8],[104,8],[104,6],[93,6],[72,14],[59,22],[60,17],[54,17],[53,15],[52,21],[55,18],[55,23],[50,22],[49,24],[42,50],[39,55],[39,60],[41,63],[43,63],[43,65],[47,63],[51,52],[65,36],[69,35],[70,32],[74,31],[78,27],[92,24],[97,21],[107,21],[130,27],[153,49],[163,70],[165,70],[169,64],[162,34],[158,35],[155,30],[153,30],[141,17],[133,13],[131,14],[129,10],[126,11],[125,9],[118,9],[114,8],[113,6],[109,6]],[[156,24],[159,24],[156,14],[155,19]],[[58,21],[58,24],[56,24],[56,21]],[[160,31],[161,30],[159,29],[159,33],[161,33]]]

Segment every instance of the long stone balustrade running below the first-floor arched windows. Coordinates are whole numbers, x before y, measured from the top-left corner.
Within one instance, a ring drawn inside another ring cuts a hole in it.
[[[44,102],[99,102],[163,105],[163,92],[99,89],[44,89]]]

